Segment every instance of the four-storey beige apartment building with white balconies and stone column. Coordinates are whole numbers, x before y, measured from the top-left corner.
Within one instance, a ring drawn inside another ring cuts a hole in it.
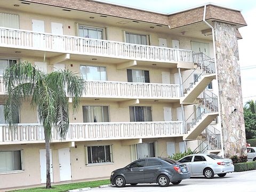
[[[0,188],[46,182],[37,111],[24,102],[16,130],[3,116],[3,72],[25,60],[44,73],[75,71],[86,83],[66,140],[52,130],[52,182],[108,177],[135,159],[188,147],[219,153],[223,143],[225,156],[246,153],[243,26],[239,10],[214,4],[164,14],[101,1],[1,1]]]

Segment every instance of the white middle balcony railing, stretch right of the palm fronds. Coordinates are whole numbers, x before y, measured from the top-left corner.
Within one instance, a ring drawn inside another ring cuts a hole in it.
[[[86,81],[85,89],[84,97],[172,99],[180,95],[179,85],[160,83]]]

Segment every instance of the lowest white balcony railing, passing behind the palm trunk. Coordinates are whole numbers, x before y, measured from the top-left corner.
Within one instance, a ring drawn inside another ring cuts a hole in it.
[[[175,137],[183,134],[182,122],[70,123],[65,141]],[[41,124],[18,124],[16,129],[0,124],[0,145],[44,142]],[[52,142],[60,142],[52,129]]]

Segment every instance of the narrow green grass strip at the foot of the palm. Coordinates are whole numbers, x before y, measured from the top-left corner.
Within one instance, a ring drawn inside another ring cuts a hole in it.
[[[99,180],[99,181],[88,181],[88,182],[79,182],[79,183],[69,183],[69,184],[62,184],[62,185],[54,185],[51,189],[45,189],[44,187],[37,187],[37,188],[28,188],[28,189],[20,189],[14,191],[31,191],[31,192],[43,192],[43,191],[54,191],[54,192],[61,192],[61,191],[68,191],[70,189],[80,189],[85,187],[99,187],[100,185],[107,185],[110,184],[109,179],[106,180]]]

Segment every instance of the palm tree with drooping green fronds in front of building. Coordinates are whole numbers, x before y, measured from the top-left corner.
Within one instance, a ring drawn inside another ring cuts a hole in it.
[[[73,113],[75,113],[84,90],[83,79],[69,70],[44,74],[30,62],[24,61],[7,68],[4,81],[7,91],[4,117],[12,129],[17,126],[14,114],[22,105],[22,101],[31,101],[31,107],[38,111],[45,136],[46,188],[51,188],[51,131],[58,129],[61,139],[65,139],[69,127],[67,95],[73,98]]]

